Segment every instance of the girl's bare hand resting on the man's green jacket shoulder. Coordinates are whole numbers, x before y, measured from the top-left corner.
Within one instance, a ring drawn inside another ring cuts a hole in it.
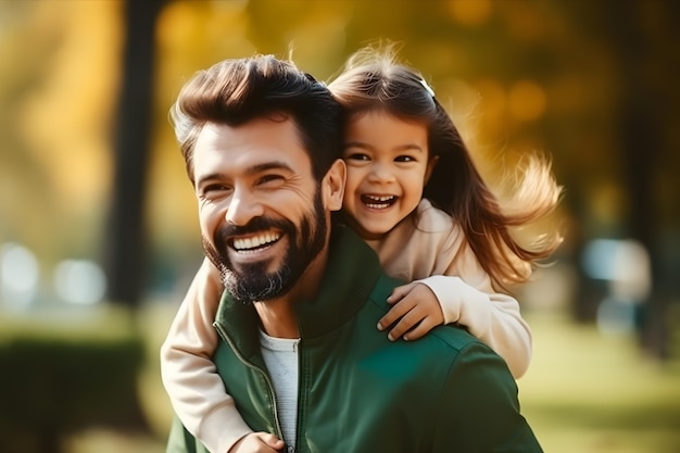
[[[387,302],[393,306],[378,322],[378,330],[385,330],[399,320],[387,336],[390,341],[398,338],[417,340],[444,324],[439,300],[427,285],[414,281],[396,287]]]

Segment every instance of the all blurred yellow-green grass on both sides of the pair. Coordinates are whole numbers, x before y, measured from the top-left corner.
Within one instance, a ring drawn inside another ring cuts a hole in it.
[[[134,322],[148,344],[149,363],[138,387],[154,432],[130,436],[105,427],[90,429],[66,439],[68,453],[165,451],[172,410],[160,380],[158,349],[174,310],[169,304],[150,304]],[[98,316],[105,315],[106,324],[125,330],[126,317],[116,313]],[[528,313],[527,319],[534,334],[534,355],[518,381],[519,398],[546,453],[680,451],[677,360],[659,364],[642,354],[634,337],[603,336],[594,326],[576,325],[564,315]],[[25,328],[21,327],[24,334]]]

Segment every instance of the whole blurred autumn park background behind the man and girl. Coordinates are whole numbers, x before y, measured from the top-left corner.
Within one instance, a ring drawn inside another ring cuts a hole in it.
[[[519,289],[546,452],[680,451],[680,2],[0,0],[0,452],[155,453],[158,349],[201,261],[167,111],[252,53],[328,80],[389,39],[492,183],[553,160],[566,235]]]

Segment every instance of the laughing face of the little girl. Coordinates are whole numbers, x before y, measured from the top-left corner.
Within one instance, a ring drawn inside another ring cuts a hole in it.
[[[425,124],[379,111],[348,123],[343,210],[362,238],[379,239],[420,202],[435,164],[427,138]]]

